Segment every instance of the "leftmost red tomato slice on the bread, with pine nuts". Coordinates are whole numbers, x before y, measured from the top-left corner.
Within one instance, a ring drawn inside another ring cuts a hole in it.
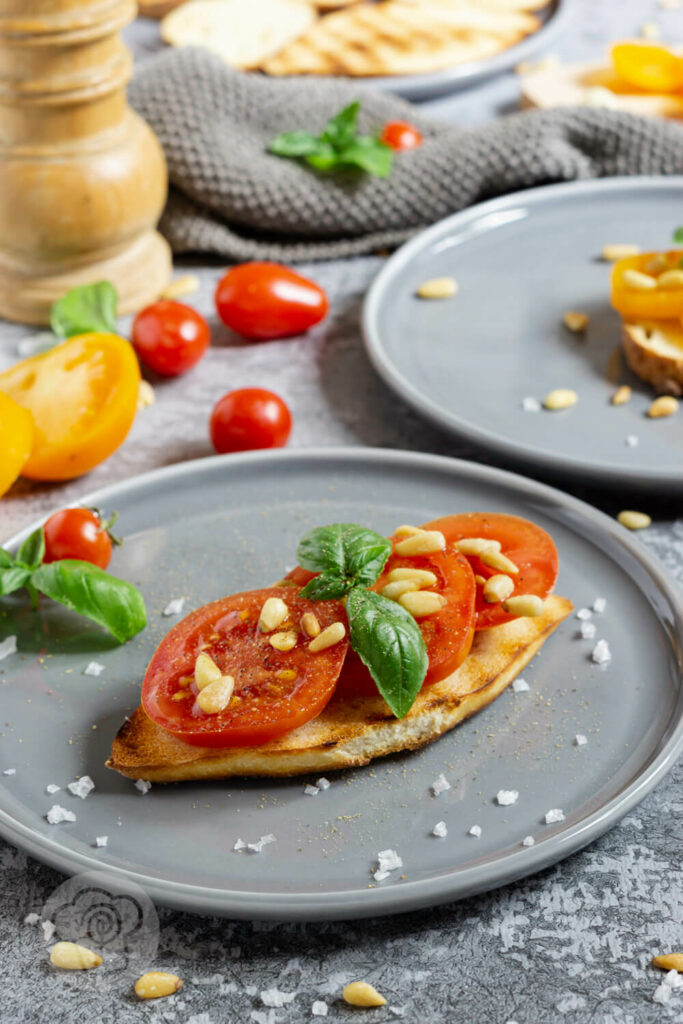
[[[298,631],[292,650],[275,650],[269,635],[258,630],[268,597],[281,597],[289,607],[289,618],[278,629]],[[309,651],[308,637],[299,628],[306,611],[314,612],[323,629],[334,622],[346,623],[339,602],[306,601],[292,587],[233,594],[198,608],[157,648],[142,684],[144,711],[162,728],[200,746],[254,746],[315,718],[334,692],[348,642]],[[217,715],[205,714],[195,699],[195,662],[200,651],[234,678],[233,696]],[[291,672],[296,673],[293,679]],[[183,691],[189,696],[173,699]]]

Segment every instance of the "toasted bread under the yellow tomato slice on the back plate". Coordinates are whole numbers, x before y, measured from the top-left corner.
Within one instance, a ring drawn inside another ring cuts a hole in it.
[[[683,327],[679,321],[624,324],[622,343],[634,373],[665,394],[683,395]]]

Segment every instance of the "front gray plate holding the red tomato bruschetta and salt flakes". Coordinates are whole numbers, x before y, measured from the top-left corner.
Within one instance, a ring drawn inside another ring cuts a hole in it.
[[[567,856],[638,803],[681,749],[681,611],[672,589],[626,530],[559,492],[435,456],[331,449],[186,463],[86,503],[121,513],[126,543],[112,570],[141,587],[148,629],[117,647],[49,602],[0,620],[0,638],[15,631],[19,644],[0,663],[8,723],[0,769],[16,769],[0,775],[0,831],[61,870],[104,866],[161,903],[237,918],[392,913]],[[525,671],[529,692],[506,691],[422,752],[336,773],[317,797],[304,796],[306,778],[155,785],[142,797],[104,768],[147,659],[174,622],[161,615],[171,598],[184,596],[190,610],[267,584],[313,524],[356,520],[388,532],[474,509],[529,516],[552,531],[559,592],[577,607],[607,599],[594,621],[611,646],[609,666],[592,664],[593,644],[577,639],[571,618]],[[105,666],[98,678],[82,674],[90,659]],[[574,744],[577,733],[586,746]],[[81,801],[63,787],[86,772],[96,790]],[[441,772],[453,787],[434,798],[430,783]],[[62,791],[48,796],[49,782]],[[518,790],[518,803],[499,807],[501,788]],[[46,823],[55,801],[76,812],[74,824]],[[544,824],[551,808],[566,820]],[[439,820],[445,840],[431,836]],[[467,835],[473,824],[479,840]],[[232,852],[238,838],[268,833],[276,842],[261,854]],[[100,835],[110,837],[105,849],[93,847]],[[521,846],[527,835],[535,847]],[[398,850],[403,870],[371,888],[377,852],[387,848]]]

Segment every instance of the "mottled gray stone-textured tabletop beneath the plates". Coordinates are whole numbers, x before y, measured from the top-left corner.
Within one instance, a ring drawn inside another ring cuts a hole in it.
[[[683,42],[683,12],[660,10],[652,0],[567,2],[573,17],[554,46],[565,58],[599,56],[609,39],[636,35],[647,20]],[[155,23],[138,22],[128,39],[138,59],[159,47]],[[438,117],[473,122],[506,113],[517,95],[509,75],[429,106]],[[273,388],[289,401],[295,446],[373,444],[480,458],[426,426],[372,372],[357,324],[364,292],[379,266],[378,259],[316,266],[314,275],[332,297],[327,323],[301,340],[252,346],[236,345],[211,316],[219,266],[196,267],[202,291],[191,301],[211,319],[208,356],[186,378],[157,386],[157,403],[87,479],[62,486],[17,484],[0,503],[0,538],[86,490],[210,454],[206,424],[216,395],[248,384]],[[16,343],[28,333],[0,326],[0,366],[13,361]],[[624,496],[583,497],[607,512],[624,507]],[[655,522],[642,540],[680,583],[680,504],[677,510],[648,499],[647,508]],[[654,1002],[661,977],[648,966],[654,952],[683,947],[682,781],[679,766],[617,827],[564,863],[433,910],[292,926],[161,910],[155,966],[176,971],[185,986],[178,996],[157,1004],[136,1002],[129,984],[106,972],[97,981],[93,974],[56,975],[47,964],[40,928],[24,919],[41,910],[62,879],[0,842],[0,1020],[287,1024],[315,1019],[312,1005],[324,1000],[335,1022],[361,1015],[365,1020],[365,1013],[378,1024],[683,1021],[683,989],[666,1005]],[[343,984],[357,978],[372,981],[389,1007],[362,1012],[340,1002]],[[282,1008],[267,1008],[260,993],[272,988],[297,994]]]

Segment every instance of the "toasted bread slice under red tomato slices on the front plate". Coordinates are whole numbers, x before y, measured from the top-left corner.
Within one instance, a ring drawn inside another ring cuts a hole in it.
[[[156,725],[138,708],[119,730],[109,768],[152,782],[300,775],[368,764],[374,758],[431,743],[503,692],[571,611],[555,595],[537,618],[516,618],[477,633],[464,665],[424,689],[403,719],[384,700],[333,697],[317,718],[261,746],[191,746]]]

